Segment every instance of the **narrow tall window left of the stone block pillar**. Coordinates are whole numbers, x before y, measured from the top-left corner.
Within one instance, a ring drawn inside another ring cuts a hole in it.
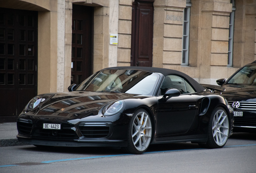
[[[188,65],[188,48],[189,48],[189,25],[190,25],[190,7],[191,1],[187,0],[184,9],[183,37],[182,37],[182,65]]]

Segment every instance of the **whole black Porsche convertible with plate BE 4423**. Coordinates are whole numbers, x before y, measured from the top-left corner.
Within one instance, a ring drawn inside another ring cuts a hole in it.
[[[68,93],[34,97],[17,119],[17,138],[35,146],[123,147],[192,142],[221,148],[233,129],[233,109],[188,75],[164,68],[113,67]]]

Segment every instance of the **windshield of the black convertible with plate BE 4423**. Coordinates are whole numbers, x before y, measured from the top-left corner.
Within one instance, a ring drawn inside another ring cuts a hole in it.
[[[157,73],[140,70],[102,70],[87,78],[74,91],[153,95],[159,78]]]

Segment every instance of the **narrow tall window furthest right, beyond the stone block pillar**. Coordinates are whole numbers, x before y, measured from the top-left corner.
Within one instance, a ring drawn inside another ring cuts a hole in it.
[[[234,36],[234,21],[235,21],[235,0],[230,1],[232,12],[229,15],[229,50],[227,54],[227,66],[233,66],[233,36]]]

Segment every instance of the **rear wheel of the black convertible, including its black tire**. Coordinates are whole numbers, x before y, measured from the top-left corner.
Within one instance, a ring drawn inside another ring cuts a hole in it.
[[[222,148],[227,143],[229,136],[229,117],[222,107],[214,109],[208,127],[208,141],[201,144],[201,147],[210,149]]]

